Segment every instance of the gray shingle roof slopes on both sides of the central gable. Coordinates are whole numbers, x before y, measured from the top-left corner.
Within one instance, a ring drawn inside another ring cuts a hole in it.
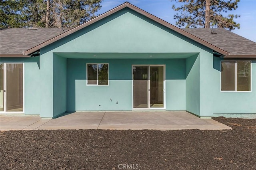
[[[256,55],[256,43],[225,29],[214,29],[217,34],[211,34],[212,29],[182,29],[205,42],[208,42],[230,55]],[[60,28],[9,28],[0,30],[0,54],[22,55],[26,51],[46,42],[62,33]]]

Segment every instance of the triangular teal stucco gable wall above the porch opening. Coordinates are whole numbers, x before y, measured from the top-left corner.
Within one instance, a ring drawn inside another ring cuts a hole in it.
[[[68,58],[92,58],[92,53],[198,53],[206,49],[125,8],[44,47],[43,51],[51,52],[51,55],[52,52],[74,53],[66,56]]]

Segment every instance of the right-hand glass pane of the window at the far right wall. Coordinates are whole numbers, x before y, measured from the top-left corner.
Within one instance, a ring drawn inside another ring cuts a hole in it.
[[[237,82],[237,91],[250,91],[251,89],[251,71],[250,71],[250,66],[251,66],[251,61],[237,61],[237,77],[236,77],[236,82]]]

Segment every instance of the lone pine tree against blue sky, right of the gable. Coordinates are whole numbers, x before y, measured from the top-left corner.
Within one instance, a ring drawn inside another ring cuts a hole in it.
[[[186,28],[210,28],[210,25],[216,28],[228,28],[234,30],[240,28],[240,24],[234,22],[234,18],[239,15],[229,14],[223,16],[222,13],[236,10],[240,0],[179,0],[185,3],[180,7],[172,6],[172,9],[180,12],[174,15],[176,25]]]

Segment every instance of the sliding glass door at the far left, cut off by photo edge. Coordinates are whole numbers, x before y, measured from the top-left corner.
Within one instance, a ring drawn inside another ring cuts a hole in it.
[[[23,63],[1,63],[0,67],[0,112],[23,112]]]

